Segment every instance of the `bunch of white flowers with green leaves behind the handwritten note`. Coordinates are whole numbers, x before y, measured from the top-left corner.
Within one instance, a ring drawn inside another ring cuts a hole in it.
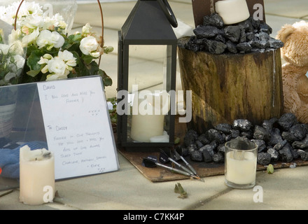
[[[47,10],[44,11],[44,8]],[[18,83],[100,75],[105,86],[112,84],[111,78],[99,69],[97,59],[113,48],[104,46],[103,37],[92,32],[89,24],[83,27],[81,33],[66,36],[70,25],[62,15],[53,14],[50,3],[40,6],[34,1],[0,6],[0,20],[15,27],[9,38],[15,44],[8,44],[10,48],[2,50],[3,55],[10,55],[15,70],[22,66],[21,49],[27,48],[25,69],[18,76]],[[19,41],[18,45],[16,41]],[[15,83],[10,79],[10,84]]]

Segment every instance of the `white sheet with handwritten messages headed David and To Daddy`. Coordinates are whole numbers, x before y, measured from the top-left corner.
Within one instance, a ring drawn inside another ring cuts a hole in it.
[[[38,83],[55,179],[118,169],[116,144],[99,76]]]

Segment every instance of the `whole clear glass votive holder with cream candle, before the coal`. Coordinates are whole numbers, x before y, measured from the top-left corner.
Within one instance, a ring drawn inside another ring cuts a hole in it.
[[[225,184],[231,188],[253,188],[257,158],[258,146],[254,142],[228,141],[225,144]]]

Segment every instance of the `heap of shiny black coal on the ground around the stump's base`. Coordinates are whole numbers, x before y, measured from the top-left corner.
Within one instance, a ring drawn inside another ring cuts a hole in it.
[[[219,124],[203,134],[189,130],[178,150],[193,161],[221,163],[225,162],[225,142],[237,138],[258,145],[260,165],[298,158],[308,161],[308,125],[298,123],[293,113],[264,120],[262,125],[237,119],[232,125]]]

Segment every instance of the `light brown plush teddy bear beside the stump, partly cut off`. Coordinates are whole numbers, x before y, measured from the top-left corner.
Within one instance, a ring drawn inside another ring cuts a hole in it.
[[[281,56],[286,61],[282,66],[284,112],[308,123],[308,22],[284,25],[276,38],[284,44]]]

